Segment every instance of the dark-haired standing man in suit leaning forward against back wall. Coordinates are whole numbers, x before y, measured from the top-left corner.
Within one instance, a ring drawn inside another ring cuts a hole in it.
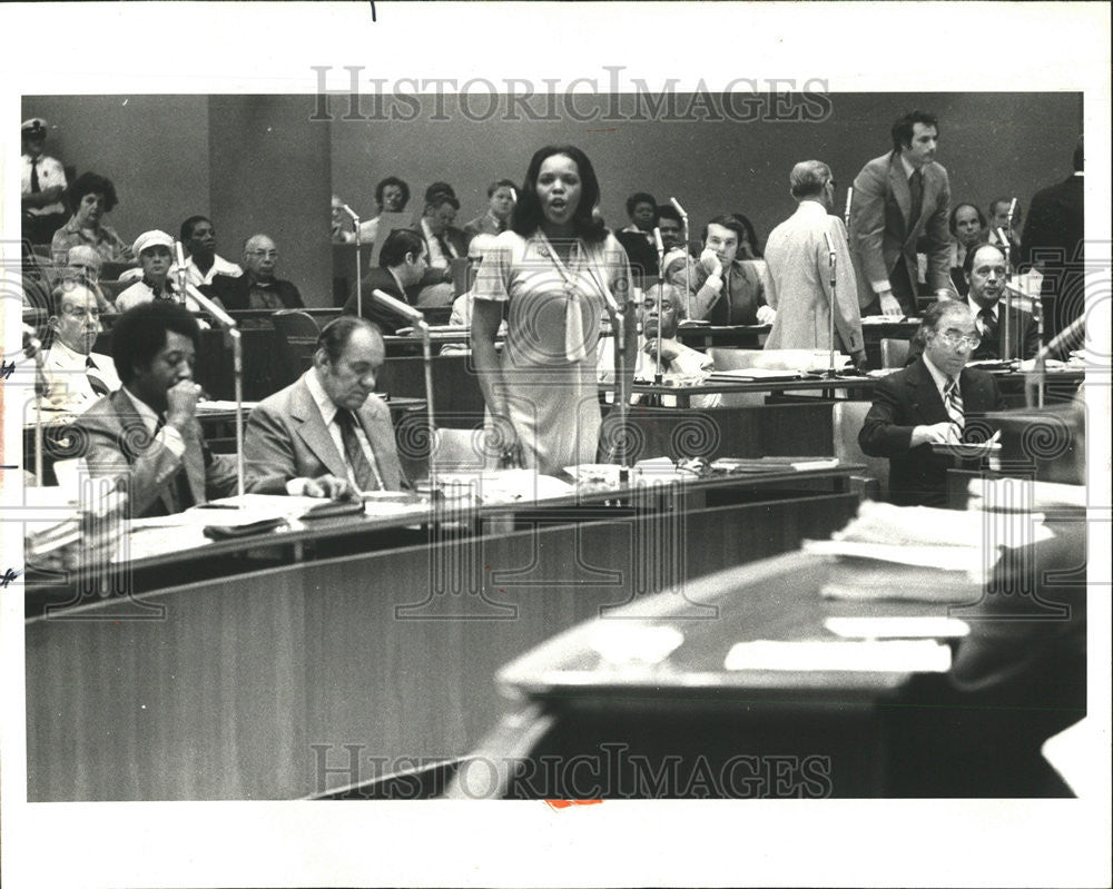
[[[863,315],[915,315],[919,279],[916,241],[927,239],[928,285],[951,293],[951,181],[935,162],[939,126],[912,111],[893,125],[893,150],[874,158],[854,180],[850,256]]]

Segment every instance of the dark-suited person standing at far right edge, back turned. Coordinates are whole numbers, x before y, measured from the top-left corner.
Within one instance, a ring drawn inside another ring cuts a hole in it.
[[[1021,238],[1021,261],[1043,273],[1041,292],[1048,339],[1082,315],[1085,295],[1085,213],[1082,137],[1074,172],[1037,191]]]

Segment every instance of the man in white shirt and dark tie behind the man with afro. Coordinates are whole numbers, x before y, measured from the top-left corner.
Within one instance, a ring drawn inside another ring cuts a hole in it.
[[[42,407],[80,414],[102,395],[116,392],[120,378],[108,355],[92,350],[100,333],[100,308],[90,287],[65,280],[50,295],[53,342],[42,362],[47,392]]]

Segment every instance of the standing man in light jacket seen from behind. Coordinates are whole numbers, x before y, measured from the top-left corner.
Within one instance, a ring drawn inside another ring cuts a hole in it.
[[[792,167],[789,192],[796,213],[777,226],[766,241],[766,298],[777,318],[766,340],[767,349],[829,349],[831,304],[835,304],[835,347],[864,367],[865,343],[858,289],[850,265],[843,224],[835,207],[835,178],[819,160]],[[835,288],[831,289],[830,248],[835,250]]]

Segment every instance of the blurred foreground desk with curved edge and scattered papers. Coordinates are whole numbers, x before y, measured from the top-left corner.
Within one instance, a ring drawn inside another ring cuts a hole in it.
[[[896,567],[894,584],[908,584],[908,572]],[[465,764],[457,794],[886,796],[893,745],[885,705],[912,680],[910,669],[806,668],[804,652],[789,655],[799,669],[726,666],[736,643],[837,644],[826,618],[948,613],[942,602],[823,599],[828,582],[854,582],[847,571],[824,556],[788,553],[631,603],[550,640],[500,671],[518,708],[474,751],[484,768]],[[918,583],[930,587],[943,573],[923,569]],[[976,601],[979,584],[959,576],[952,595]]]

